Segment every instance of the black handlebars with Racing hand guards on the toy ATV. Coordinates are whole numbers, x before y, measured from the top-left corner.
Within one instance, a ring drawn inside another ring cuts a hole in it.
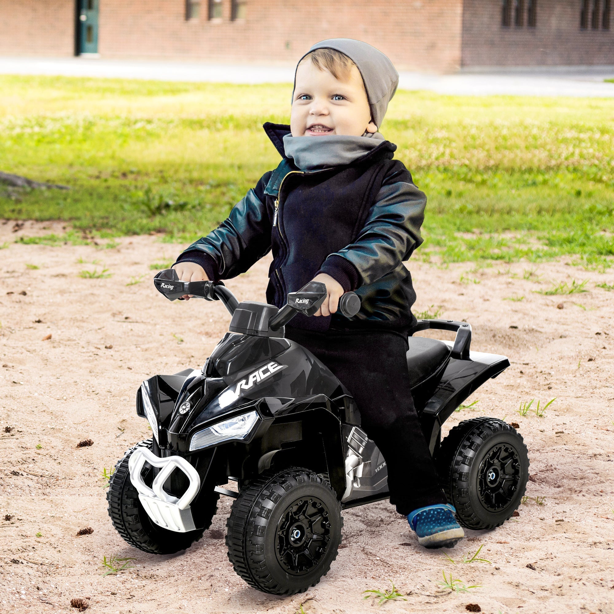
[[[221,300],[232,316],[239,307],[235,295],[221,281],[181,281],[174,269],[160,271],[153,284],[168,300],[182,300],[185,294],[204,298],[208,301]],[[268,321],[268,327],[277,331],[284,327],[297,313],[313,316],[327,296],[326,286],[320,282],[310,281],[298,292],[288,294],[288,302]],[[360,297],[356,292],[344,293],[338,311],[345,317],[353,317],[360,310]]]

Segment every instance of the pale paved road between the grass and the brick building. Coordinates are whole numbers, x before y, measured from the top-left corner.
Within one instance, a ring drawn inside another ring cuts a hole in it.
[[[134,61],[100,58],[0,57],[0,74],[123,77],[212,83],[288,83],[292,66],[209,64],[192,61]],[[453,75],[401,72],[399,87],[458,95],[614,97],[614,66],[492,69]]]

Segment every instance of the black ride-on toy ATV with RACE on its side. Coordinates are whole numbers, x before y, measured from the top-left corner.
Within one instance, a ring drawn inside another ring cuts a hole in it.
[[[305,591],[336,558],[341,511],[389,494],[386,462],[360,427],[346,388],[284,338],[295,314],[316,313],[325,286],[310,282],[278,309],[238,303],[220,282],[179,281],[172,269],[154,282],[171,300],[185,294],[221,300],[232,315],[230,332],[202,370],[156,375],[139,388],[136,411],[153,438],[115,467],[107,495],[115,529],[136,548],[175,553],[202,537],[220,495],[235,497],[226,536],[235,571],[265,593]],[[344,316],[359,308],[356,293],[341,297]],[[523,438],[494,418],[461,422],[443,441],[440,433],[465,398],[510,363],[470,351],[466,322],[422,320],[410,335],[427,328],[456,331],[454,343],[410,336],[407,352],[414,404],[441,485],[463,526],[499,526],[526,488]],[[238,493],[220,486],[228,481],[236,481]]]

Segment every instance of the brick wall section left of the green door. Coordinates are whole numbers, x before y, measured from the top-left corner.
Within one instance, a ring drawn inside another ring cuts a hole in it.
[[[74,0],[0,0],[0,55],[74,55]]]

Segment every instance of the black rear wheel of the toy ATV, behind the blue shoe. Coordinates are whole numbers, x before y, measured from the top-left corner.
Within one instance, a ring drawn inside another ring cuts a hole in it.
[[[518,508],[529,478],[522,436],[495,418],[473,418],[454,427],[435,459],[441,487],[468,529],[492,529]]]

